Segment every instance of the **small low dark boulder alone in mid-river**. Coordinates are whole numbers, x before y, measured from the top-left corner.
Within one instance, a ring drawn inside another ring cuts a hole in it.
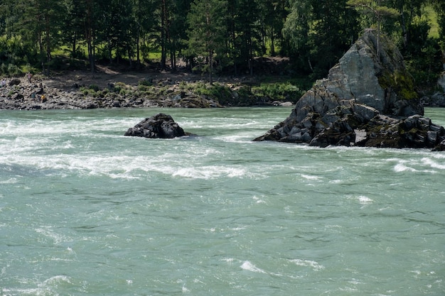
[[[145,138],[176,138],[188,136],[190,133],[184,132],[183,128],[176,124],[170,115],[156,114],[148,119],[129,128],[124,136],[138,136]]]

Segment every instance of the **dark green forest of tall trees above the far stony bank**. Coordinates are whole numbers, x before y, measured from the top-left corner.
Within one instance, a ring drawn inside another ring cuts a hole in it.
[[[0,74],[98,63],[257,75],[286,57],[289,75],[326,76],[363,33],[389,36],[420,89],[443,70],[443,0],[0,0]]]

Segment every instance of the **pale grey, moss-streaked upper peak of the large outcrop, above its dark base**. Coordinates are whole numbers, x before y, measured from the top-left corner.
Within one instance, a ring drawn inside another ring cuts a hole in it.
[[[328,77],[318,80],[313,89],[304,94],[296,109],[327,96],[353,100],[390,116],[423,115],[423,106],[414,92],[400,51],[390,41],[381,39],[380,58],[377,58],[376,37],[365,33],[329,70]],[[316,111],[319,113],[319,108]]]

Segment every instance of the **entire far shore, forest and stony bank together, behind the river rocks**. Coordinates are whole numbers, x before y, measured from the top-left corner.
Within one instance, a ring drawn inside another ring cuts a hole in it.
[[[0,109],[295,103],[368,31],[443,94],[444,1],[4,1]]]

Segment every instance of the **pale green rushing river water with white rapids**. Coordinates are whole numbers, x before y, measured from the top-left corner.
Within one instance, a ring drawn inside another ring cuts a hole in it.
[[[251,141],[289,113],[1,111],[0,295],[445,295],[445,153]]]

